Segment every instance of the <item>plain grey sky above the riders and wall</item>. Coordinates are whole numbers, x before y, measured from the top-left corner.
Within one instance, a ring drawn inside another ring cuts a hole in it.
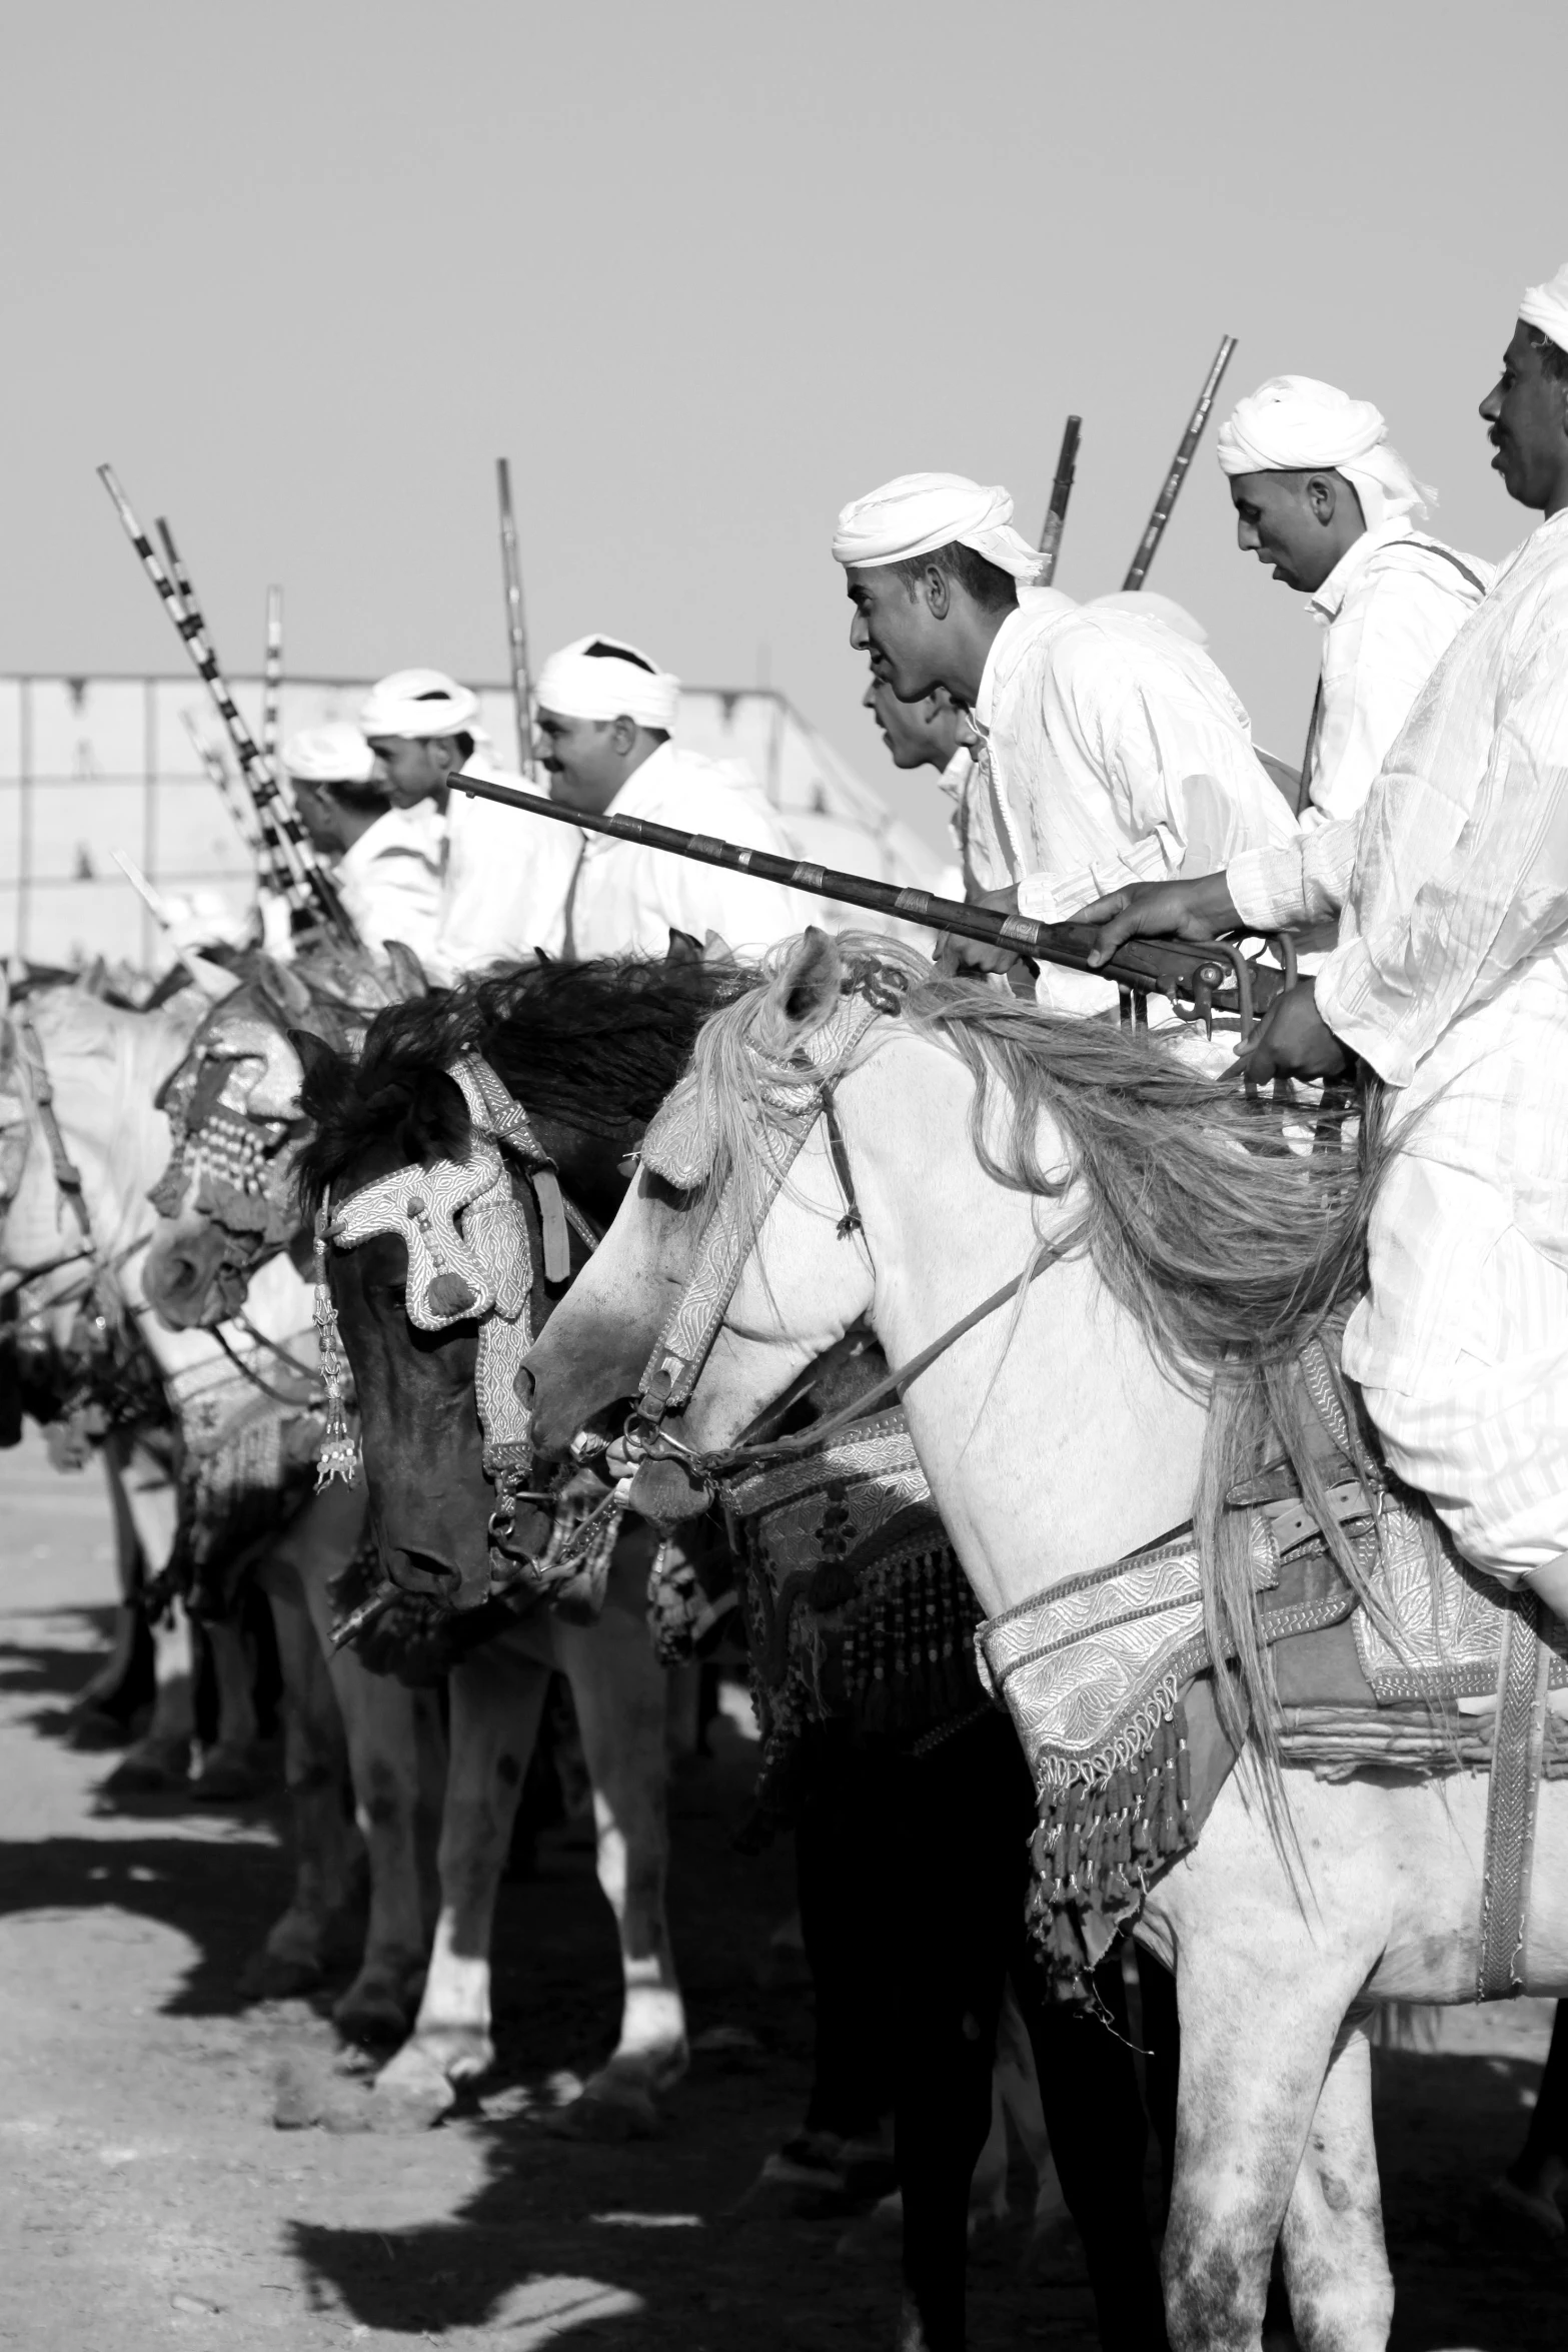
[[[94,480],[190,555],[233,668],[503,675],[588,628],[766,675],[893,786],[835,510],[933,466],[1121,583],[1222,332],[1387,412],[1436,527],[1528,517],[1476,400],[1568,259],[1563,0],[52,0],[7,26],[0,670],[172,668]],[[1150,586],[1298,753],[1316,630],[1211,437]],[[933,795],[910,811],[926,826]]]

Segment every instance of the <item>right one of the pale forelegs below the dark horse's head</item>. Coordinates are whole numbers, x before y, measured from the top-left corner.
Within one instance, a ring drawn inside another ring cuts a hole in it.
[[[599,1886],[616,1915],[625,1985],[621,2039],[588,2096],[646,2122],[649,2093],[686,2072],[686,2011],[665,1922],[665,1672],[639,1585],[618,1590],[611,1576],[599,1623],[557,1625],[555,1639],[592,1778]]]

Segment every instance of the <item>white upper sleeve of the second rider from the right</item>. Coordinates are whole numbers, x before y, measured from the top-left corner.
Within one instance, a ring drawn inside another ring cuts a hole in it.
[[[1422,564],[1441,564],[1448,581]],[[1373,776],[1410,715],[1453,633],[1472,609],[1462,574],[1443,557],[1422,557],[1392,541],[1368,562],[1356,595],[1356,628],[1331,630],[1324,666],[1324,731],[1312,807],[1319,818],[1359,816]]]

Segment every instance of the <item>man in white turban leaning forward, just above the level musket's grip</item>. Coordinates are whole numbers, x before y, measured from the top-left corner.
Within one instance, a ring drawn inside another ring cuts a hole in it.
[[[1295,818],[1208,654],[1138,612],[1032,590],[1039,555],[1011,513],[1004,489],[914,473],[846,506],[832,541],[856,607],[849,642],[872,677],[900,701],[945,687],[969,715],[978,903],[1060,922],[1119,882],[1291,840]],[[969,941],[950,955],[1006,962]],[[1077,971],[1041,969],[1037,995],[1070,1011],[1117,1004]]]

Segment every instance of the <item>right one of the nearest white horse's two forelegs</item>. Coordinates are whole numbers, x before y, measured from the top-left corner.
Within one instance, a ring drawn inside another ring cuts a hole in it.
[[[1302,2352],[1382,2352],[1394,2279],[1373,2147],[1373,2060],[1352,2018],[1328,2063],[1284,2223],[1291,2326]]]

